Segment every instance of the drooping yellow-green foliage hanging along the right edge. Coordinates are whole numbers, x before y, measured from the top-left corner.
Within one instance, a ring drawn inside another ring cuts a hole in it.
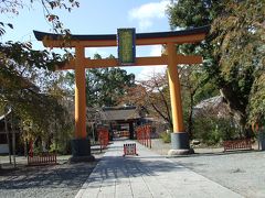
[[[216,35],[212,42],[215,45],[214,56],[220,57],[219,65],[224,79],[223,86],[234,92],[237,101],[233,101],[229,97],[227,99],[231,107],[240,110],[245,120],[247,114],[254,118],[252,111],[255,108],[250,106],[257,107],[257,103],[253,100],[263,103],[261,96],[252,96],[254,94],[252,89],[263,86],[256,84],[259,78],[256,70],[259,69],[258,65],[262,64],[261,59],[265,55],[263,50],[265,31],[261,25],[264,19],[265,3],[256,0],[241,3],[230,2],[223,14],[212,25],[212,33]],[[250,98],[252,99],[250,100]]]

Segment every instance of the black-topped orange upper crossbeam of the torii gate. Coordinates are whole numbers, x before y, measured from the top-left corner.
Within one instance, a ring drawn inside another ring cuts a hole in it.
[[[209,32],[209,26],[188,29],[172,32],[155,32],[155,33],[137,33],[136,45],[156,45],[156,44],[182,44],[195,43],[204,40],[205,33]],[[116,34],[99,34],[99,35],[71,35],[70,43],[65,43],[62,35],[51,34],[45,32],[34,31],[38,41],[43,41],[46,47],[75,47],[82,45],[84,47],[99,46],[117,46]]]

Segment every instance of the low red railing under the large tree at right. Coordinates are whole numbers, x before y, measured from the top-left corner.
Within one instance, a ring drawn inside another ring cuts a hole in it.
[[[251,142],[251,139],[224,141],[223,146],[224,146],[224,152],[232,151],[232,150],[252,150],[252,142]]]

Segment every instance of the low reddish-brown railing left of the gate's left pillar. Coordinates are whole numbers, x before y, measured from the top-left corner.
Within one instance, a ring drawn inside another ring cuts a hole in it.
[[[56,153],[41,153],[39,155],[28,155],[28,165],[57,164]]]

